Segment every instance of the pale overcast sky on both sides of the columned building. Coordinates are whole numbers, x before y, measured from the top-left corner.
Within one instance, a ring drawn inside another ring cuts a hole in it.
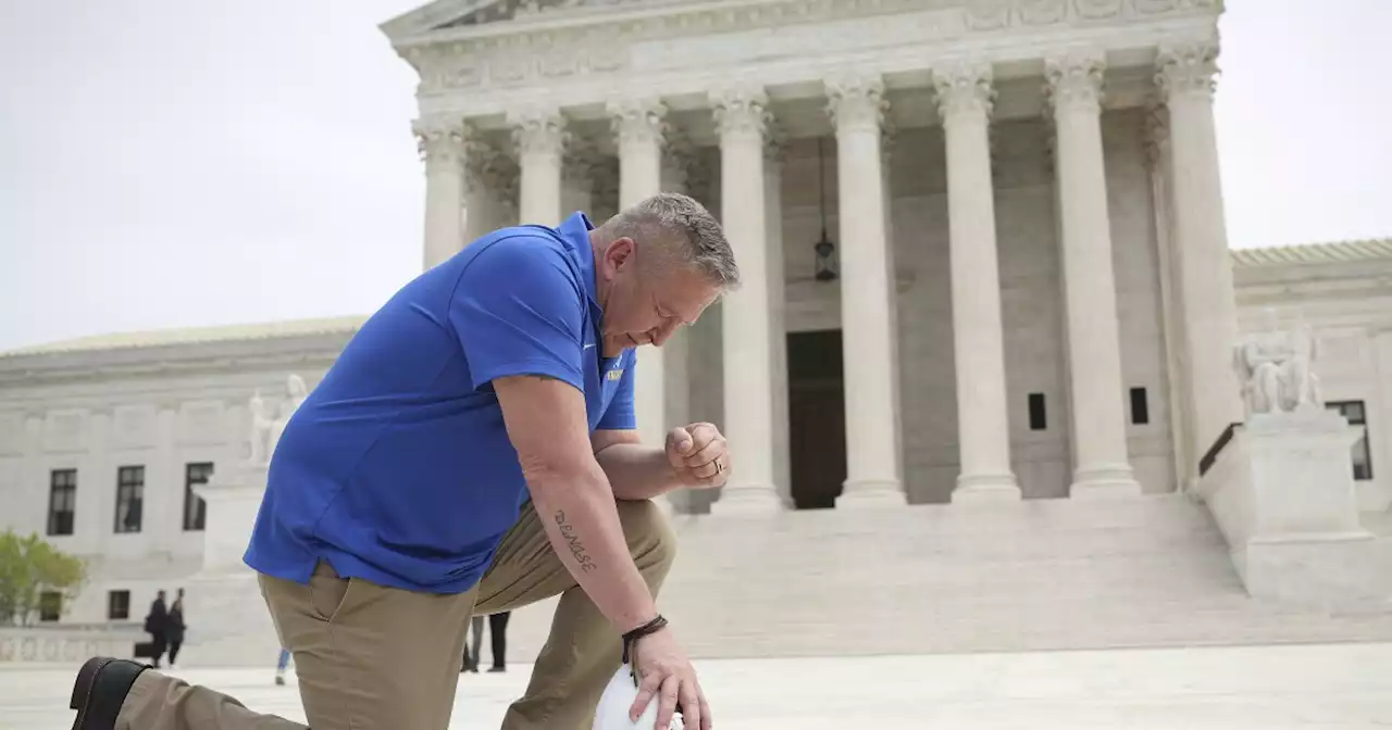
[[[381,305],[423,179],[377,24],[422,1],[0,0],[0,349]],[[1221,29],[1231,243],[1392,235],[1392,0]]]

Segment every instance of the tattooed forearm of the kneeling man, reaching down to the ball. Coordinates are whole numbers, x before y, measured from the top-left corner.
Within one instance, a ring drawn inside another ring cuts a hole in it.
[[[626,633],[657,616],[657,606],[629,555],[604,473],[594,466],[585,471],[536,476],[532,501],[561,565],[600,613]]]

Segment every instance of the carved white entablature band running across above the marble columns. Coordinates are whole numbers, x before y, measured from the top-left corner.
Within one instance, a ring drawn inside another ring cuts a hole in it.
[[[537,95],[562,107],[603,104],[615,83],[704,95],[735,71],[764,85],[813,83],[816,93],[828,74],[913,74],[952,57],[1019,67],[1086,47],[1122,54],[1118,67],[1146,65],[1162,43],[1214,40],[1221,10],[1218,0],[619,1],[394,44],[420,74],[422,117],[491,117]]]

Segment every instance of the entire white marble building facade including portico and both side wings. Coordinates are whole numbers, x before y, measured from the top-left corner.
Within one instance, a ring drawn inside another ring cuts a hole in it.
[[[1232,349],[1268,307],[1314,324],[1385,512],[1392,245],[1228,250],[1218,13],[441,0],[383,29],[420,71],[426,267],[657,190],[722,220],[745,286],[638,370],[649,437],[710,420],[739,453],[679,512],[1187,491],[1242,420]],[[0,356],[0,528],[95,566],[61,620],[139,622],[193,574],[195,487],[245,459],[248,400],[312,388],[361,321]]]

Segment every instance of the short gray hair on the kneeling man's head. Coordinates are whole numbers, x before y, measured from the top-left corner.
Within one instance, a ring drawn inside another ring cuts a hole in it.
[[[725,231],[706,206],[690,196],[657,193],[644,197],[600,228],[611,239],[628,236],[644,248],[660,243],[667,263],[696,268],[721,289],[739,286],[739,267]]]

